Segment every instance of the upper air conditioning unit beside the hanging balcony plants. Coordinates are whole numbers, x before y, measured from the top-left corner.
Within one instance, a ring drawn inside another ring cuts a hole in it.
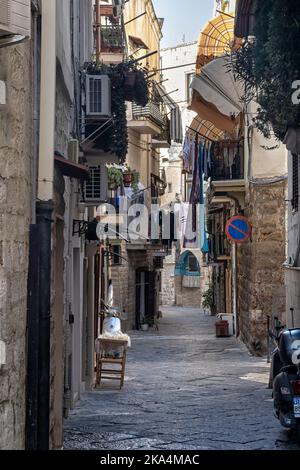
[[[86,117],[111,116],[111,83],[107,75],[86,76]]]

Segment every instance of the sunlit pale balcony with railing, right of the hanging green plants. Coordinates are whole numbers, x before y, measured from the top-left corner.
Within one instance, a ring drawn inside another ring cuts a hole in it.
[[[129,129],[134,129],[141,134],[160,135],[165,125],[165,116],[159,105],[149,101],[142,107],[133,103],[132,119],[128,120]]]

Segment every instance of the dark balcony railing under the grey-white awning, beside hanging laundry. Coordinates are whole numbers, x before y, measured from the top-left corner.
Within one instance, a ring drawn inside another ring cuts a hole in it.
[[[211,176],[214,181],[244,179],[243,141],[223,141],[216,144]]]

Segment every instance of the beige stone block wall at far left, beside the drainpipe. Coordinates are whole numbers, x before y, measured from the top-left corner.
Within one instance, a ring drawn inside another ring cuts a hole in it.
[[[31,222],[31,46],[0,49],[0,449],[25,445],[26,297]]]

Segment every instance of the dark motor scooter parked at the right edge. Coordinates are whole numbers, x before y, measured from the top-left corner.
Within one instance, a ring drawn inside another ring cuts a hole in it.
[[[283,427],[294,429],[300,445],[300,328],[285,328],[275,318],[276,348],[271,356],[270,382],[276,418]]]

